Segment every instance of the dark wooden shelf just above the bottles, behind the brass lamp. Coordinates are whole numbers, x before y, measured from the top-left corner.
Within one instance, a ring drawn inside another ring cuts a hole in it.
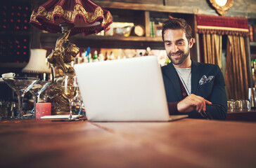
[[[54,48],[56,39],[60,34],[41,33],[41,46],[43,48]],[[162,42],[162,37],[146,37],[146,36],[82,36],[76,34],[69,37],[72,43],[75,43],[79,48],[134,48],[134,49],[151,49],[164,50],[165,46]],[[99,45],[100,43],[100,45]]]

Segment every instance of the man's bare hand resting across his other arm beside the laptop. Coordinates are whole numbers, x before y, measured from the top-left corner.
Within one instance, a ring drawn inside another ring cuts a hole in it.
[[[193,110],[202,113],[206,110],[206,104],[212,103],[207,101],[203,97],[197,96],[195,94],[190,94],[188,97],[181,100],[181,102],[177,104],[177,109],[181,113],[187,113]]]

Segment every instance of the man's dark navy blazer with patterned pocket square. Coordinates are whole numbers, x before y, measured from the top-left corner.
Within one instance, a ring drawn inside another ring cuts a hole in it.
[[[203,75],[206,77],[215,77],[212,78],[210,82],[199,85],[199,81]],[[177,72],[172,63],[167,64],[167,66],[162,66],[162,78],[165,84],[167,102],[180,102],[182,100],[182,95],[178,79],[179,77],[177,76]],[[201,64],[192,60],[191,94],[196,94],[212,102],[212,105],[206,106],[206,111],[210,113],[210,116],[212,116],[213,119],[226,119],[227,100],[225,82],[219,66],[215,64]],[[188,114],[189,118],[203,118],[198,111],[191,111],[186,114]]]

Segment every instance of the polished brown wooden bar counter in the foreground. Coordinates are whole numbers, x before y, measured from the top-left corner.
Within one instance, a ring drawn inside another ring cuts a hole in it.
[[[256,167],[256,123],[0,121],[0,167]]]

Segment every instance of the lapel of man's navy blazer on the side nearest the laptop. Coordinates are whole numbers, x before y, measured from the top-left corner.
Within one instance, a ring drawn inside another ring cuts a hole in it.
[[[179,97],[179,99],[182,99],[181,86],[179,85],[179,78],[177,76],[177,72],[174,69],[173,64],[169,63],[166,66],[165,70],[166,70],[165,75],[167,76],[168,80],[172,83],[177,96]]]

